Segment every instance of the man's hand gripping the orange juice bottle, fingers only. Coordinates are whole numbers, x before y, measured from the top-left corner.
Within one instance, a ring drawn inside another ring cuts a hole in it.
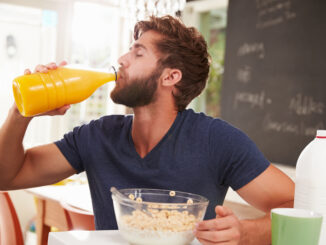
[[[60,62],[59,65],[57,65],[54,62],[49,63],[47,65],[37,65],[35,67],[35,69],[34,69],[34,72],[47,73],[49,70],[57,69],[58,67],[65,66],[66,64],[67,64],[66,61],[62,61],[62,62]],[[31,74],[31,73],[32,72],[29,69],[26,69],[24,71],[24,75],[28,75],[28,74]],[[42,116],[42,115],[47,115],[47,116],[64,115],[69,108],[70,108],[70,105],[64,105],[64,106],[62,106],[60,108],[57,108],[57,109],[54,109],[52,111],[48,111],[48,112],[39,114],[38,116]],[[14,104],[13,110],[15,111],[15,113],[19,113],[16,104]]]

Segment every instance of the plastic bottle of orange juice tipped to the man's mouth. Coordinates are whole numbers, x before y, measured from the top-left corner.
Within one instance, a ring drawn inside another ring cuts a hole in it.
[[[12,87],[19,112],[29,117],[79,103],[104,83],[117,80],[117,76],[115,71],[59,67],[48,73],[19,76],[14,79]]]

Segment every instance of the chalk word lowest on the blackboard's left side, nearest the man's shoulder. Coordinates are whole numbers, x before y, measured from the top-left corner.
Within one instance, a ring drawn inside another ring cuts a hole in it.
[[[271,104],[272,100],[265,97],[265,92],[259,93],[236,92],[233,100],[233,108],[237,109],[240,103],[249,104],[251,108],[264,109],[265,103]]]

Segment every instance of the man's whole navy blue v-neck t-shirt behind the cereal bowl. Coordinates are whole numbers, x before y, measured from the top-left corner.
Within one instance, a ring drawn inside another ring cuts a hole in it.
[[[193,110],[179,112],[161,141],[144,157],[131,137],[132,115],[105,116],[76,127],[56,142],[78,173],[86,171],[96,229],[117,229],[110,188],[160,188],[196,193],[216,217],[228,187],[249,183],[269,162],[240,130]]]

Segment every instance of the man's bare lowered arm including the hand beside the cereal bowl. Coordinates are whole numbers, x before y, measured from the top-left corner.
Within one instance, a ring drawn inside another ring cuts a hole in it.
[[[293,207],[294,183],[273,165],[237,192],[266,215],[259,219],[238,220],[229,208],[217,206],[217,218],[202,221],[196,228],[196,236],[202,244],[270,244],[270,210]]]

